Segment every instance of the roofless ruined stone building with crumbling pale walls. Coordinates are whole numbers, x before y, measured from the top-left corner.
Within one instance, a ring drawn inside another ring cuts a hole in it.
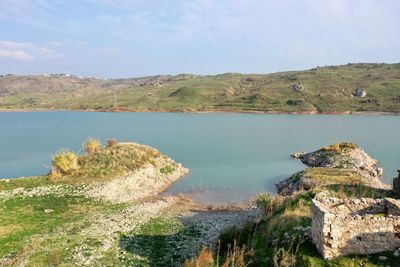
[[[400,247],[400,201],[317,195],[311,235],[325,259],[395,250]]]

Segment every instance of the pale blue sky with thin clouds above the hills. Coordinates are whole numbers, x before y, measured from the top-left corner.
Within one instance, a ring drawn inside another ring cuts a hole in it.
[[[399,61],[398,0],[0,0],[0,74],[121,78]]]

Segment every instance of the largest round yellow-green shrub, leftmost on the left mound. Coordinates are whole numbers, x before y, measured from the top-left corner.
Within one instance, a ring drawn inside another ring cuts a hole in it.
[[[53,157],[52,176],[68,174],[77,169],[79,169],[78,155],[75,152],[62,150]]]

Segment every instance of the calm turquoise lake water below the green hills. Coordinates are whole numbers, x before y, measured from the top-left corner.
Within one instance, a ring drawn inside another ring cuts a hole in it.
[[[295,151],[352,141],[379,160],[384,180],[400,168],[400,117],[191,113],[0,113],[0,177],[48,172],[61,148],[79,151],[88,137],[153,146],[190,169],[167,192],[204,203],[236,202],[304,166]]]

